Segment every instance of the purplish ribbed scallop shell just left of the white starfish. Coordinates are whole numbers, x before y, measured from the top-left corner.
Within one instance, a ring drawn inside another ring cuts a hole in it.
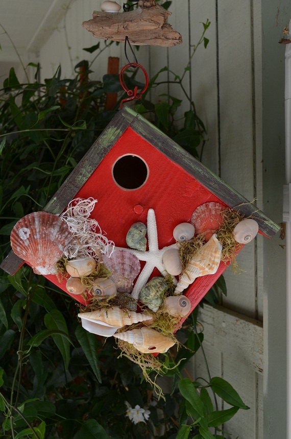
[[[132,291],[133,281],[140,271],[140,262],[129,250],[114,249],[110,258],[103,256],[106,268],[111,272],[110,279],[119,292]]]

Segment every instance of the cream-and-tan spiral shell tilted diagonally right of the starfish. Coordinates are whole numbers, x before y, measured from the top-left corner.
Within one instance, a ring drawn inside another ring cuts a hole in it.
[[[197,277],[216,273],[221,260],[221,251],[222,245],[214,234],[204,246],[193,254],[179,278],[175,294],[180,294]]]

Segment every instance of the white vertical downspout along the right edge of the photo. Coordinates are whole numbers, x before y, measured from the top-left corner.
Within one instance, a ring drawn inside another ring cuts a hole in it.
[[[289,21],[291,32],[291,19]],[[287,36],[290,38],[290,34]],[[291,439],[291,43],[285,50],[285,151],[283,221],[286,223],[286,309],[287,309],[287,439]]]

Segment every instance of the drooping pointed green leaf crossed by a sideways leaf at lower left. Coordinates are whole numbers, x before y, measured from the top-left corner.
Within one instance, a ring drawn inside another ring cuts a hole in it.
[[[70,342],[68,336],[68,328],[63,314],[58,309],[52,309],[52,311],[45,314],[44,324],[47,329],[59,330],[67,335],[65,337],[63,334],[52,334],[54,342],[57,345],[60,353],[62,354],[65,369],[67,369],[70,361]]]

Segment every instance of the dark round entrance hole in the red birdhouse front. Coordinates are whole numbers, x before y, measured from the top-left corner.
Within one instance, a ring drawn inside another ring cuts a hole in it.
[[[120,157],[113,165],[112,174],[115,182],[123,189],[137,189],[148,178],[148,166],[138,156]]]

